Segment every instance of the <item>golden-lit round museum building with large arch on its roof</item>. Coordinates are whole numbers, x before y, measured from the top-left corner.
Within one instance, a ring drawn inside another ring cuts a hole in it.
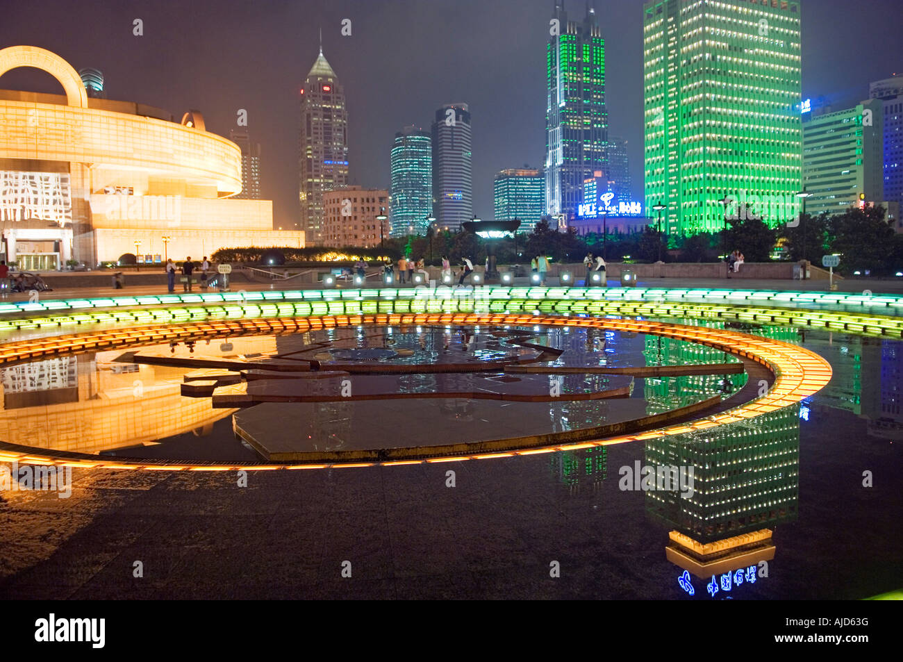
[[[47,270],[211,255],[218,248],[303,247],[300,231],[273,229],[270,200],[241,191],[241,152],[160,108],[88,98],[79,74],[40,48],[0,50],[0,76],[33,67],[64,95],[0,89],[0,258]]]

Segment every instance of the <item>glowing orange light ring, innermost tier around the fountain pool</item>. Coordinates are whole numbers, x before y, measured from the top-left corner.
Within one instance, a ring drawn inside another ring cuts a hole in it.
[[[730,351],[740,356],[758,361],[767,366],[775,374],[776,379],[771,389],[765,396],[758,397],[741,406],[733,407],[716,415],[707,416],[697,421],[686,424],[675,424],[641,434],[630,434],[608,439],[593,440],[590,442],[550,445],[544,448],[531,448],[520,451],[505,452],[480,452],[479,454],[461,454],[447,457],[434,457],[410,462],[462,462],[466,460],[487,460],[498,457],[511,457],[517,455],[531,455],[537,452],[573,451],[585,448],[599,447],[616,443],[628,443],[643,441],[660,436],[684,434],[699,430],[707,430],[723,424],[730,424],[755,416],[767,414],[786,406],[794,405],[805,397],[811,396],[823,388],[831,379],[831,366],[827,361],[819,357],[815,352],[805,350],[795,345],[780,340],[759,338],[738,331],[722,329],[708,329],[705,327],[686,326],[683,324],[670,324],[651,320],[630,319],[601,319],[593,317],[563,318],[559,316],[532,315],[532,314],[502,314],[502,313],[417,313],[417,314],[366,314],[366,315],[340,315],[323,316],[316,318],[275,318],[272,320],[232,320],[228,322],[197,322],[182,324],[177,327],[146,327],[131,331],[101,331],[95,334],[83,334],[61,336],[53,339],[52,346],[44,346],[41,350],[43,356],[58,356],[69,353],[72,350],[84,350],[90,346],[100,348],[122,348],[143,344],[145,338],[153,336],[170,336],[179,339],[197,337],[214,337],[234,333],[247,332],[274,332],[274,331],[316,331],[321,329],[334,329],[362,324],[375,324],[380,326],[398,326],[404,324],[457,324],[457,325],[535,325],[566,326],[599,328],[613,331],[630,331],[635,333],[649,333],[676,340],[696,342],[717,350]],[[29,341],[11,343],[0,347],[3,360],[7,356],[23,356],[30,350]],[[190,464],[190,463],[141,463],[129,462],[120,459],[118,462],[107,463],[95,458],[60,457],[47,453],[43,449],[30,449],[28,453],[0,450],[0,462],[12,462],[31,464],[65,464],[66,466],[84,469],[123,469],[146,471],[224,471],[245,470],[265,471],[275,469],[302,468],[302,464]],[[318,463],[313,466],[326,467],[369,467],[397,465],[396,462],[355,462],[347,463]],[[310,465],[306,465],[310,466]]]

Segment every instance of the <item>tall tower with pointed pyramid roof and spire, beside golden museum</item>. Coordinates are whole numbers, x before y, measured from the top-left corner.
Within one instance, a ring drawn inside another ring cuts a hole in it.
[[[345,92],[322,46],[301,89],[301,228],[321,246],[323,193],[348,185],[348,112]]]

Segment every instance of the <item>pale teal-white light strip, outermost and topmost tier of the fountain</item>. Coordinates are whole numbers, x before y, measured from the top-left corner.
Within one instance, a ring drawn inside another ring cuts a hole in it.
[[[159,296],[100,297],[97,299],[65,299],[54,301],[22,301],[0,303],[0,318],[22,312],[53,312],[74,310],[98,310],[108,308],[129,308],[134,306],[158,306],[194,303],[247,303],[247,302],[296,302],[296,301],[339,301],[362,299],[412,299],[428,294],[436,298],[457,298],[477,296],[481,299],[506,300],[526,298],[543,300],[547,298],[570,300],[611,300],[611,301],[668,301],[702,303],[770,303],[778,307],[803,307],[813,305],[830,306],[876,306],[889,314],[903,313],[903,296],[894,294],[842,294],[825,292],[787,292],[784,290],[729,290],[718,288],[653,288],[653,287],[503,287],[486,285],[476,292],[456,290],[441,286],[428,287],[383,287],[370,289],[329,289],[329,290],[239,290],[237,292],[211,292],[203,294],[161,294]]]

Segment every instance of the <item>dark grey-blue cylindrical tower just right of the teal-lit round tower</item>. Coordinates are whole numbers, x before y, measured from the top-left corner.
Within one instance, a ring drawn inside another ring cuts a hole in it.
[[[446,104],[433,119],[433,216],[452,231],[473,217],[470,111]]]

